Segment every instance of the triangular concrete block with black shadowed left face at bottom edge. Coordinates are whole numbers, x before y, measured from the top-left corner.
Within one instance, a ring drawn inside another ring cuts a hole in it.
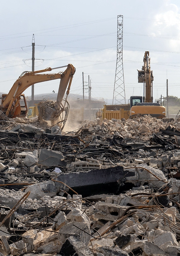
[[[69,237],[63,244],[61,250],[58,252],[59,255],[64,256],[93,256],[94,254],[89,248],[81,241],[78,241],[75,237]]]

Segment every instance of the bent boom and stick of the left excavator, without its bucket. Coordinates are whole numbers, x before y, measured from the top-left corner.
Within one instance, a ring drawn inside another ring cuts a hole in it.
[[[45,70],[38,70],[34,72],[24,72],[13,84],[9,93],[3,99],[1,105],[1,111],[6,114],[6,116],[13,118],[16,108],[19,106],[19,102],[21,99],[21,94],[32,84],[51,81],[55,79],[61,79],[59,90],[57,94],[57,102],[61,104],[63,100],[66,88],[68,86],[67,94],[69,94],[70,85],[72,82],[72,77],[75,73],[75,68],[72,64],[68,64],[66,70],[64,72],[59,72],[57,74],[39,74],[46,71],[51,71],[51,68],[47,68]],[[16,116],[20,116],[21,111],[17,113]]]

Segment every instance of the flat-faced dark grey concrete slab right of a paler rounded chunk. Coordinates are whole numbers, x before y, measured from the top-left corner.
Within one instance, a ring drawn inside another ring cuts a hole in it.
[[[64,166],[63,155],[59,151],[39,149],[38,165],[45,167]]]

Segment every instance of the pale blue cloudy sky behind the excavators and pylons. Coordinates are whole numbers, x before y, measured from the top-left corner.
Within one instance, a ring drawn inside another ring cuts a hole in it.
[[[70,92],[112,99],[117,60],[117,15],[123,15],[123,72],[126,103],[143,95],[138,83],[145,51],[153,70],[153,98],[180,97],[180,1],[178,0],[7,0],[1,2],[0,91],[8,93],[24,71],[73,64]],[[63,69],[54,72],[63,71]],[[52,73],[52,71],[51,71]],[[58,91],[59,81],[35,84],[34,94]],[[25,91],[31,95],[31,88]]]

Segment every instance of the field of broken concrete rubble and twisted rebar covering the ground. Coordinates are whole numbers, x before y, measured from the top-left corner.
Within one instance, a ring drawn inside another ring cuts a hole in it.
[[[180,255],[178,119],[18,118],[0,140],[0,256]]]

